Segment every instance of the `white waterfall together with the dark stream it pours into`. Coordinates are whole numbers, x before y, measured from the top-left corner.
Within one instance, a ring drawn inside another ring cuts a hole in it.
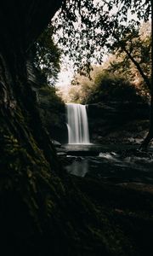
[[[86,106],[66,104],[68,144],[65,145],[70,164],[67,172],[81,176],[102,178],[116,183],[134,182],[153,185],[153,152],[144,154],[119,145],[104,147],[89,141]],[[124,151],[126,154],[124,154]],[[70,155],[71,154],[71,155]]]

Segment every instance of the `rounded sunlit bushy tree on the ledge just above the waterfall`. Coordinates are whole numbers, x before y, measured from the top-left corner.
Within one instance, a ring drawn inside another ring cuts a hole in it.
[[[83,104],[95,102],[138,102],[143,101],[139,90],[122,74],[111,73],[101,67],[94,67],[91,79],[80,75],[76,76],[76,85],[69,90],[69,102]]]

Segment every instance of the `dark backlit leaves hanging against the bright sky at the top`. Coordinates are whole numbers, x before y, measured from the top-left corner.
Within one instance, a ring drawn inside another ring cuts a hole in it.
[[[150,5],[149,0],[65,1],[54,18],[59,44],[82,73],[88,71],[91,63],[103,61],[106,47],[120,40],[127,29],[150,19]]]

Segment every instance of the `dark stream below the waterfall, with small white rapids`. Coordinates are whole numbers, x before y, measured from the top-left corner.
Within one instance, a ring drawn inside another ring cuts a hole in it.
[[[145,153],[131,145],[65,145],[72,175],[113,183],[153,184],[153,151]],[[113,150],[112,150],[113,149]]]

